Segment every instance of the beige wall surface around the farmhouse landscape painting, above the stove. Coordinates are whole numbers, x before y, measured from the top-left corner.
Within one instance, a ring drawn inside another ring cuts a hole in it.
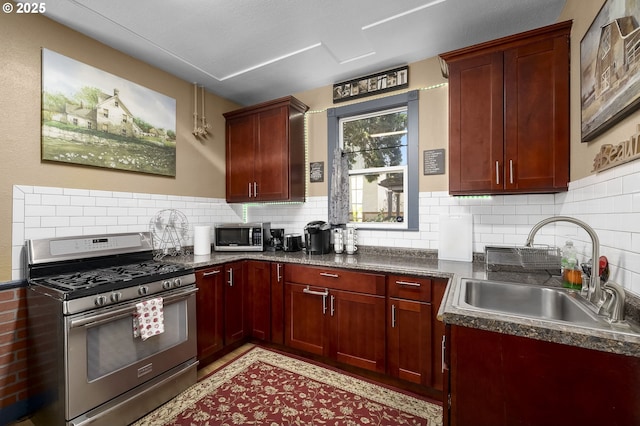
[[[191,135],[193,85],[38,15],[0,14],[0,281],[11,278],[12,187],[54,186],[224,197],[224,117],[236,104],[206,95],[212,134]],[[40,160],[41,48],[176,99],[176,177]]]

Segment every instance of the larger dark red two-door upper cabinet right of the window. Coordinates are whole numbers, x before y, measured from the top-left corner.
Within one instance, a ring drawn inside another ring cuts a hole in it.
[[[449,192],[566,191],[571,21],[440,55],[449,69]]]

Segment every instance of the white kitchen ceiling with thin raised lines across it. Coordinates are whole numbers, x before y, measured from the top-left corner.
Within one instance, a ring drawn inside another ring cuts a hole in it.
[[[45,15],[250,105],[552,24],[565,1],[55,0]]]

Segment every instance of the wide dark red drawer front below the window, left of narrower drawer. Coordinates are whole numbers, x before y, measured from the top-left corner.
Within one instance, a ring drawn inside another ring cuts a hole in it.
[[[285,280],[316,287],[384,295],[384,275],[316,266],[287,265]]]

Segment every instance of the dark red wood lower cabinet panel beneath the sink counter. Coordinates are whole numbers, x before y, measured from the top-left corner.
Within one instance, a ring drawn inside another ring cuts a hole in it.
[[[640,425],[640,358],[449,327],[451,425]]]

